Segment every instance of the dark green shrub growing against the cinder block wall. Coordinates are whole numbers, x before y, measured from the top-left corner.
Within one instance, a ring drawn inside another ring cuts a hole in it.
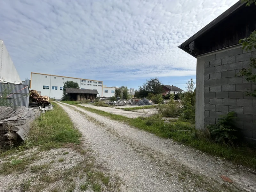
[[[229,143],[233,145],[240,139],[240,130],[235,126],[235,112],[229,112],[226,116],[218,119],[216,125],[209,125],[210,135],[217,143]]]

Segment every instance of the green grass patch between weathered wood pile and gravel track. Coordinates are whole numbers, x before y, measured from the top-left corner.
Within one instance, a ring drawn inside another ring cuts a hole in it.
[[[68,114],[58,104],[33,122],[29,138],[24,146],[41,146],[45,149],[59,148],[65,143],[80,143],[81,133],[74,128]]]

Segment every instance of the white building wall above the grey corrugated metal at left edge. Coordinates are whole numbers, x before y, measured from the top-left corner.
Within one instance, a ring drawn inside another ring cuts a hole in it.
[[[8,83],[21,83],[20,76],[3,40],[0,40],[0,80]]]

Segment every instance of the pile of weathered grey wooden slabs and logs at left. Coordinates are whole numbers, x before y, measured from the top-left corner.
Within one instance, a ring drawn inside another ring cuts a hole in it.
[[[40,116],[38,108],[19,106],[16,110],[0,106],[0,146],[12,145],[26,140],[30,123]]]

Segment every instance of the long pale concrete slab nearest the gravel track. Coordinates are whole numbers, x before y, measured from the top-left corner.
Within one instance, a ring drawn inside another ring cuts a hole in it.
[[[88,105],[82,105],[84,107],[89,107]],[[101,111],[105,111],[108,113],[112,113],[115,115],[122,115],[125,117],[129,117],[129,118],[137,118],[137,117],[149,117],[151,116],[150,114],[146,114],[146,113],[138,113],[138,112],[134,112],[134,111],[124,111],[122,109],[116,109],[116,108],[112,108],[112,107],[93,107],[94,109],[97,110],[101,110]]]

